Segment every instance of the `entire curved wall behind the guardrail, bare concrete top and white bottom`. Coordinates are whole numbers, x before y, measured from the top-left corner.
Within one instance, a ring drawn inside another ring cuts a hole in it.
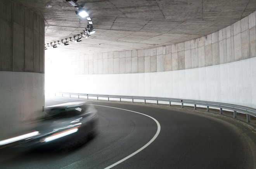
[[[207,36],[144,50],[46,55],[47,92],[157,96],[256,108],[256,12]],[[51,87],[51,88],[49,88]]]

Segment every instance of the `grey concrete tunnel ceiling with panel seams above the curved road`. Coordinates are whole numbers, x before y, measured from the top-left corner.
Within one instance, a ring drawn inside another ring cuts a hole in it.
[[[16,0],[45,19],[45,43],[83,32],[87,20],[65,0]],[[78,0],[93,21],[90,38],[52,50],[98,53],[164,46],[211,34],[256,10],[256,0]]]

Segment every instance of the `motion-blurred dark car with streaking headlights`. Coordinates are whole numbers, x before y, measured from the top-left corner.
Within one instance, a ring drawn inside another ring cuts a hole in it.
[[[45,116],[33,122],[33,131],[0,140],[0,147],[71,150],[95,135],[97,120],[97,110],[87,102],[48,106]]]

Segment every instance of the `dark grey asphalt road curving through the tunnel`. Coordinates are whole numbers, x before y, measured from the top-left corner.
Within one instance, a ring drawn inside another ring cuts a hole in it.
[[[45,104],[50,106],[71,101],[77,100],[52,97],[47,99]],[[152,106],[99,101],[90,101],[90,104],[102,105],[95,106],[99,112],[99,124],[98,135],[93,140],[65,154],[36,151],[13,155],[4,160],[0,159],[0,168],[103,169],[143,147],[143,150],[112,168],[256,167],[253,150],[250,147],[252,145],[243,134],[244,130],[249,130],[243,129],[245,126],[234,125],[227,120],[209,115]],[[160,126],[157,126],[157,122],[149,116],[156,119]],[[152,142],[149,144],[150,140]]]

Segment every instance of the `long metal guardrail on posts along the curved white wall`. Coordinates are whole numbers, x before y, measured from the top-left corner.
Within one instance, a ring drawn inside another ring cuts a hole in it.
[[[235,104],[221,103],[221,102],[199,101],[199,100],[190,100],[190,99],[175,99],[175,98],[166,98],[166,97],[79,94],[79,93],[67,93],[67,92],[55,92],[55,96],[56,94],[62,94],[62,97],[63,97],[63,94],[69,95],[69,97],[78,96],[78,98],[80,98],[80,96],[86,96],[87,99],[89,99],[89,97],[97,97],[97,100],[99,100],[99,97],[105,97],[105,98],[108,98],[107,99],[108,101],[109,101],[109,98],[118,98],[120,99],[120,102],[121,102],[121,99],[131,99],[132,102],[134,101],[134,99],[144,100],[144,103],[146,103],[146,100],[152,100],[152,101],[156,101],[157,102],[156,104],[158,104],[159,101],[165,101],[165,102],[169,102],[169,106],[171,106],[171,102],[177,102],[177,103],[181,103],[182,108],[184,104],[194,104],[194,109],[197,108],[197,105],[201,105],[201,106],[206,106],[206,111],[209,111],[209,107],[220,108],[220,114],[222,114],[222,109],[232,110],[234,111],[234,118],[237,117],[237,113],[244,113],[246,114],[247,122],[251,121],[250,116],[256,117],[256,109],[254,108],[235,105]]]

